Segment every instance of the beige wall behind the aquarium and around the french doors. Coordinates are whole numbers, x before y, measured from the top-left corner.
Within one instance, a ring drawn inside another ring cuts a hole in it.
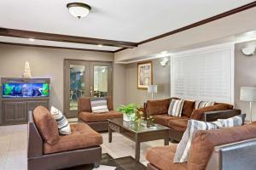
[[[113,54],[97,53],[90,51],[66,50],[54,48],[32,48],[12,45],[0,45],[0,77],[21,77],[24,71],[25,61],[29,61],[32,69],[32,77],[49,77],[50,105],[55,105],[63,110],[63,59],[86,59],[113,61]],[[114,79],[121,80],[122,67],[113,66]],[[122,70],[123,69],[123,70]],[[124,78],[125,80],[125,78]],[[124,81],[123,81],[124,82]],[[116,87],[114,81],[114,87]],[[123,90],[114,92],[114,105],[123,102],[125,95]],[[117,96],[117,98],[115,97]]]

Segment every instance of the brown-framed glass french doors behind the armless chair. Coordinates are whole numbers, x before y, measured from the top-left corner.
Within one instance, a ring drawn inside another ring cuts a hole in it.
[[[64,113],[78,116],[81,97],[112,96],[112,62],[64,60]]]

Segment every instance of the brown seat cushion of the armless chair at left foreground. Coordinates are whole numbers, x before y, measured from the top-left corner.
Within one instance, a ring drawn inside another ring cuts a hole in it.
[[[84,123],[71,124],[72,134],[60,136],[58,143],[44,143],[44,154],[90,148],[102,144],[102,135]]]

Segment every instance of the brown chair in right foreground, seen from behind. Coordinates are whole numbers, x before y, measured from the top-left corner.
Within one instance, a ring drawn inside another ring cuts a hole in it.
[[[147,150],[148,170],[255,169],[256,122],[199,131],[185,163],[173,163],[176,149],[177,145],[172,144]]]

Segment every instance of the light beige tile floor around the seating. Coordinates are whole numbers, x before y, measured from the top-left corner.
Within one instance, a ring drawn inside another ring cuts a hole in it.
[[[133,156],[135,144],[119,133],[113,133],[112,143],[108,143],[108,133],[102,133],[102,153],[113,158]],[[26,170],[27,126],[0,126],[0,170]],[[145,152],[153,146],[163,145],[163,140],[146,142],[141,145],[141,162],[146,165]],[[171,144],[171,143],[170,143]]]

